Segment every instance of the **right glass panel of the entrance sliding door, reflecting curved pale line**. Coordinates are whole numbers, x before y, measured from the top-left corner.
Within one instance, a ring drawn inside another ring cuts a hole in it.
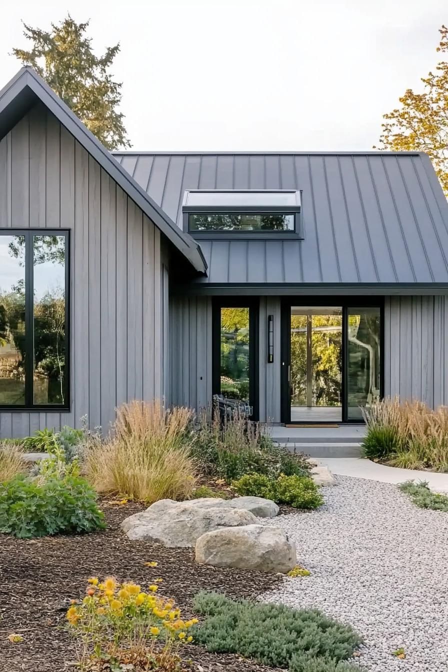
[[[381,395],[381,312],[347,308],[347,419],[361,420],[362,406]]]

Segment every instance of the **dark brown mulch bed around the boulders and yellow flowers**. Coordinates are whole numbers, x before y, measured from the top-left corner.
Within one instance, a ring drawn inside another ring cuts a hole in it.
[[[254,597],[275,587],[281,577],[261,572],[216,569],[194,562],[193,550],[164,548],[148,542],[132,542],[120,531],[120,522],[143,507],[102,503],[107,530],[86,536],[18,540],[0,535],[0,671],[61,672],[77,660],[75,641],[64,626],[66,600],[85,594],[87,579],[114,575],[147,586],[163,577],[160,591],[173,597],[191,616],[191,599],[201,589],[230,597]],[[156,560],[156,569],[144,562]],[[8,634],[24,637],[11,644]],[[269,672],[230,655],[206,653],[187,646],[185,660],[204,672]]]

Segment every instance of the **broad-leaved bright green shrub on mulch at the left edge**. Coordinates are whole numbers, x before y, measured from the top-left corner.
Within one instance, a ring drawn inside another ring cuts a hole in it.
[[[96,499],[80,476],[16,476],[0,484],[0,532],[26,539],[104,528]]]

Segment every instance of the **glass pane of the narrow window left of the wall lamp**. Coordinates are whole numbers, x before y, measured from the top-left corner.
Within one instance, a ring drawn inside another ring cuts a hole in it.
[[[249,402],[249,308],[221,308],[220,391]]]

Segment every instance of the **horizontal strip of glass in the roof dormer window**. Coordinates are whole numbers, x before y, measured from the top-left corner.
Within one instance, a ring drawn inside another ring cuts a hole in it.
[[[191,214],[190,231],[294,231],[294,214]]]

